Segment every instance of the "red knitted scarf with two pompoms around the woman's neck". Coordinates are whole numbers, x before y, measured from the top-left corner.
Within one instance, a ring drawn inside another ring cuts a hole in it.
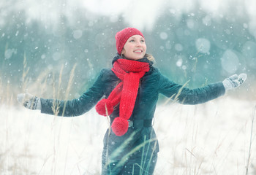
[[[99,114],[108,116],[113,112],[113,107],[120,102],[119,117],[113,120],[111,127],[116,136],[123,136],[129,127],[127,120],[129,120],[135,106],[140,78],[146,71],[149,71],[149,64],[118,59],[113,64],[112,71],[121,79],[121,82],[113,89],[108,98],[97,103],[96,110]]]

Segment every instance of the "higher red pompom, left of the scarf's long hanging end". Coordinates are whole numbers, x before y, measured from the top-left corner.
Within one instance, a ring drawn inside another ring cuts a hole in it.
[[[97,105],[95,106],[95,109],[100,115],[104,116],[112,114],[114,110],[113,104],[107,98],[104,98],[101,101],[99,101],[99,103],[97,103]],[[106,109],[108,112],[106,111]]]

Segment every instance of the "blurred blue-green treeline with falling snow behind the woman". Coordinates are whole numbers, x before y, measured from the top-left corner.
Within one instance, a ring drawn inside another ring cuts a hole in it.
[[[249,77],[243,92],[255,98],[256,42],[248,31],[247,18],[211,18],[200,10],[177,17],[169,9],[162,10],[152,28],[139,28],[162,74],[197,88],[245,72]],[[68,98],[78,98],[100,69],[111,67],[115,34],[130,25],[121,15],[113,18],[84,9],[72,15],[70,22],[60,13],[54,24],[28,21],[23,12],[6,16],[0,28],[1,101],[7,92],[15,98],[24,91],[45,98],[53,98],[58,91],[59,98],[64,98],[74,66]],[[205,46],[197,46],[197,39],[206,39],[202,43],[210,44],[209,50],[201,50]],[[236,54],[238,63],[233,63],[232,54],[225,55],[227,50]],[[234,69],[225,69],[230,65]]]

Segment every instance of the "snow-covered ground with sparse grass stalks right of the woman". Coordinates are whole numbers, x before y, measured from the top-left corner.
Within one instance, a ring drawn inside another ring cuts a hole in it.
[[[256,145],[249,139],[255,137],[255,131],[251,132],[252,105],[223,97],[197,106],[159,106],[156,117],[165,120],[154,127],[162,146],[160,174],[246,174],[249,147],[248,174],[255,174]]]

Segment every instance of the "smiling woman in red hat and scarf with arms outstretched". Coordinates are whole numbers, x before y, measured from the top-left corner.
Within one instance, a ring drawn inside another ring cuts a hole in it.
[[[146,54],[143,34],[136,28],[124,28],[116,34],[117,54],[112,69],[102,69],[86,93],[72,101],[37,98],[19,94],[18,101],[29,109],[45,114],[78,116],[94,105],[99,114],[110,117],[111,128],[105,133],[102,174],[153,174],[159,145],[152,119],[159,93],[181,104],[200,104],[225,94],[246,79],[233,75],[223,82],[190,90],[163,76]],[[103,98],[100,100],[103,96]],[[100,101],[99,101],[100,100]]]

